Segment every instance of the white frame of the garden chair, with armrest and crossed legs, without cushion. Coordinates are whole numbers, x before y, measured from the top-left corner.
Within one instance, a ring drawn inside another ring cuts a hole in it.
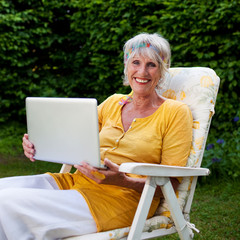
[[[219,87],[219,77],[215,74],[212,69],[209,68],[198,68],[202,71],[210,73],[214,76],[216,80],[215,86],[215,96],[213,99],[214,103],[216,101],[217,91]],[[215,75],[214,75],[215,74]],[[141,199],[131,225],[129,234],[127,237],[122,237],[118,239],[127,239],[127,240],[138,240],[138,239],[153,239],[160,236],[165,236],[173,233],[178,233],[181,240],[191,240],[194,237],[192,230],[198,232],[194,224],[190,223],[190,210],[193,201],[193,196],[197,184],[198,176],[207,176],[210,174],[209,169],[201,168],[201,162],[203,158],[203,153],[205,149],[205,144],[207,141],[207,135],[210,128],[211,117],[214,114],[214,105],[210,109],[210,117],[208,125],[205,129],[204,141],[202,144],[202,150],[200,156],[198,157],[197,164],[194,167],[176,167],[176,166],[164,166],[157,164],[146,164],[146,163],[124,163],[120,166],[119,171],[124,173],[131,173],[137,175],[147,176],[145,187],[143,189]],[[71,170],[70,165],[64,164],[60,172],[69,172]],[[176,198],[175,192],[173,190],[172,184],[170,182],[170,177],[192,177],[191,188],[189,196],[186,200],[186,203],[181,210],[178,200]],[[143,232],[144,224],[148,215],[149,208],[156,190],[156,187],[160,186],[164,198],[167,201],[168,208],[171,213],[171,217],[174,222],[174,226],[169,229],[157,229],[152,232]],[[71,240],[105,240],[102,236],[104,233],[94,233],[84,236],[69,237],[66,239]],[[116,239],[116,238],[114,238]]]

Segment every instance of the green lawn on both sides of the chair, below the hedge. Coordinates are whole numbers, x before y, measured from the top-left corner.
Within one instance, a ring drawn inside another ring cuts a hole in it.
[[[21,137],[24,128],[0,128],[0,178],[16,175],[59,172],[61,165],[30,162],[22,153]],[[203,181],[204,180],[204,181]],[[196,240],[240,239],[240,187],[237,180],[207,177],[200,180],[191,209],[191,222],[200,230]],[[157,238],[179,239],[177,234]],[[156,240],[157,240],[156,239]]]

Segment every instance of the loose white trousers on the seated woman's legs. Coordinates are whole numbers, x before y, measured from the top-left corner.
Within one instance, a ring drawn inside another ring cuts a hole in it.
[[[0,239],[53,240],[97,231],[82,195],[48,174],[0,179]]]

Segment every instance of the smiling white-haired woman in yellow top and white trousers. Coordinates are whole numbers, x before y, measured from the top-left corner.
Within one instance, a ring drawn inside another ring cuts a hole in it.
[[[101,159],[71,173],[47,173],[0,180],[1,239],[59,239],[131,225],[145,184],[144,176],[119,172],[124,162],[184,166],[192,140],[192,115],[180,102],[156,89],[170,66],[168,42],[139,34],[124,46],[124,84],[129,95],[114,94],[98,107]],[[26,157],[34,146],[23,137]],[[179,180],[171,179],[174,189]],[[62,191],[56,191],[56,190]],[[157,189],[148,217],[156,211]]]

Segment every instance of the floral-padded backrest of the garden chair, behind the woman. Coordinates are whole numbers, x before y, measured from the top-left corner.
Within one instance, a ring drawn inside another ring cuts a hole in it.
[[[201,166],[219,84],[219,77],[210,68],[170,68],[162,89],[158,91],[166,98],[186,103],[192,111],[193,141],[187,166]],[[191,208],[196,182],[197,178],[184,179],[179,186],[178,200],[186,213]],[[166,211],[163,204],[160,213]]]

